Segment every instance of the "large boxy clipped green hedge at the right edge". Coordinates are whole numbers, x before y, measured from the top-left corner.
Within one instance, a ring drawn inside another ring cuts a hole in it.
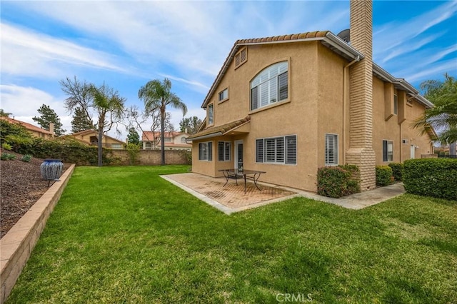
[[[403,183],[408,193],[457,201],[457,159],[421,158],[405,161]]]

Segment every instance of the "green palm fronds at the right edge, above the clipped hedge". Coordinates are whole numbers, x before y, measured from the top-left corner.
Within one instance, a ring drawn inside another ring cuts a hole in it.
[[[457,81],[445,74],[444,81],[428,80],[421,83],[424,96],[433,103],[415,126],[426,129],[432,126],[438,131],[438,141],[451,144],[457,141]]]

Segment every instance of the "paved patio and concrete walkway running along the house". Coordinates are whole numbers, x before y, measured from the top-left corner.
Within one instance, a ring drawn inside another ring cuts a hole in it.
[[[261,182],[258,184],[262,191],[258,191],[252,182],[248,182],[247,191],[244,193],[243,181],[238,181],[236,186],[235,181],[229,180],[229,183],[224,186],[225,178],[211,178],[198,173],[170,174],[161,177],[226,214],[265,206],[296,196],[333,203],[348,209],[361,209],[405,193],[403,183],[396,183],[343,198],[327,198],[318,196],[316,193]]]

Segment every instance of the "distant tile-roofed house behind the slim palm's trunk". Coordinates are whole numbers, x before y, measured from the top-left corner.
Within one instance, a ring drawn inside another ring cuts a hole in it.
[[[141,136],[141,141],[143,141],[143,149],[160,149],[160,134],[160,132],[144,131],[143,135]],[[189,133],[185,132],[165,132],[165,150],[191,151],[192,145],[190,143],[186,143],[186,138],[188,136]]]

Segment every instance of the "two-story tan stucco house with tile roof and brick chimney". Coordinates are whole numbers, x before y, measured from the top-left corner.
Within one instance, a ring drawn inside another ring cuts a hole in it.
[[[238,40],[202,107],[192,171],[266,171],[261,181],[316,191],[318,168],[352,163],[362,190],[375,166],[433,153],[411,127],[433,105],[373,63],[371,5],[351,1],[351,44],[330,31]]]

